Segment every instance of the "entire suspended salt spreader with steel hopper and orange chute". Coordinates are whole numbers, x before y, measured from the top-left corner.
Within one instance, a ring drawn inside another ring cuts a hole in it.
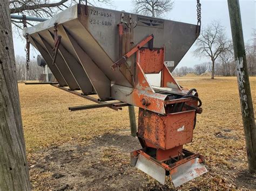
[[[170,175],[175,187],[207,172],[204,157],[183,148],[202,112],[197,90],[171,75],[199,33],[200,20],[193,25],[82,4],[23,30],[27,48],[35,46],[56,77],[53,86],[97,103],[70,110],[139,107],[142,149],[131,152],[131,165],[163,184]],[[152,86],[146,74],[159,73],[160,86]]]

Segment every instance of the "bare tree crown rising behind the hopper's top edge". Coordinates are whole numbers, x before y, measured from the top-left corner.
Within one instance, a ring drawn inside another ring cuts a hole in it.
[[[151,16],[161,17],[164,13],[172,10],[173,0],[133,0],[134,13]]]

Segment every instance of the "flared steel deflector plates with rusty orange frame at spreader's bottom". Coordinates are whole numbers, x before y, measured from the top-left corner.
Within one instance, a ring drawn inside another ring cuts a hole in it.
[[[144,150],[131,152],[131,165],[150,175],[163,185],[165,184],[166,175],[171,176],[174,187],[179,187],[208,172],[203,155],[192,154],[169,166],[164,162],[154,159],[145,153]]]

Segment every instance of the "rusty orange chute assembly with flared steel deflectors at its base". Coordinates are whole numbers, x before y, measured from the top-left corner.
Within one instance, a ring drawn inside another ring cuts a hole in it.
[[[136,87],[145,93],[140,97],[134,88],[131,94],[135,102],[144,106],[139,109],[137,133],[143,148],[131,152],[131,164],[163,184],[165,175],[171,175],[174,186],[178,187],[207,172],[202,155],[183,149],[184,144],[192,142],[196,115],[202,111],[201,101],[196,89],[181,88],[173,79],[164,62],[165,48],[141,48],[152,40],[153,36],[145,38],[112,67],[122,66],[123,61],[136,53]],[[145,74],[152,73],[161,73],[161,87],[159,92],[154,91],[154,97],[147,97],[145,95],[152,92]],[[164,90],[171,91],[170,86],[177,94],[185,95],[169,94],[163,101],[165,115],[147,110],[151,105],[152,110],[158,109],[158,96],[167,94]]]

